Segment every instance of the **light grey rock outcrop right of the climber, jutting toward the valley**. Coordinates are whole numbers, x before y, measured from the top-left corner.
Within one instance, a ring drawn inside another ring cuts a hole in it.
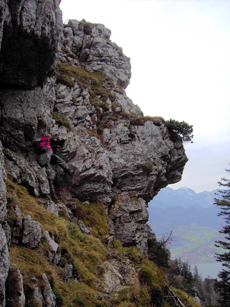
[[[111,233],[145,253],[147,203],[160,188],[181,179],[188,160],[181,138],[170,133],[163,121],[139,123],[141,110],[124,91],[131,76],[129,59],[108,40],[108,29],[70,20],[63,34],[63,67],[81,65],[88,72],[102,72],[113,95],[103,101],[103,93],[97,92],[95,104],[92,83],[82,85],[77,75],[72,86],[57,79],[55,109],[73,127],[62,150],[75,169],[68,186],[77,198],[108,206]]]

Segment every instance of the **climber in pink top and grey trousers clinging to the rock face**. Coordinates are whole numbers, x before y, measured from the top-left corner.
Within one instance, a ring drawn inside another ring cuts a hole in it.
[[[53,139],[51,134],[45,134],[39,142],[40,155],[38,156],[38,163],[42,166],[45,165],[50,185],[50,193],[54,201],[57,201],[54,188],[56,174],[50,164],[59,165],[65,173],[71,174],[73,172],[70,167],[53,152],[53,146],[62,145],[65,140],[66,138],[63,138],[62,140]]]

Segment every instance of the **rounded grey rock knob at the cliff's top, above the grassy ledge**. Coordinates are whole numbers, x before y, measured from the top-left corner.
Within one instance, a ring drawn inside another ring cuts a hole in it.
[[[131,77],[130,59],[124,56],[116,43],[109,40],[109,29],[84,20],[70,20],[63,35],[63,46],[68,57],[71,57],[68,53],[73,53],[86,71],[102,72],[118,85],[127,87]]]

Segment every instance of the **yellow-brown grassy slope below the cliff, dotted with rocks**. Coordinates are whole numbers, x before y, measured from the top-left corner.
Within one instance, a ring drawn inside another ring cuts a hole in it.
[[[38,277],[45,273],[57,298],[57,306],[74,307],[143,307],[151,306],[151,301],[162,307],[169,307],[163,298],[165,273],[147,260],[135,248],[123,248],[118,240],[112,247],[103,245],[101,238],[108,234],[107,215],[101,204],[85,206],[76,202],[79,217],[93,229],[92,235],[83,234],[75,223],[66,221],[42,208],[37,199],[27,190],[8,180],[8,220],[15,218],[12,207],[18,205],[21,214],[30,214],[32,220],[41,223],[41,229],[47,229],[54,235],[61,250],[65,250],[64,261],[73,264],[76,279],[64,281],[64,269],[50,264],[48,248],[41,243],[39,248],[31,250],[22,246],[10,247],[11,266],[17,267],[23,278],[26,293],[33,284],[32,276]],[[118,260],[129,258],[139,272],[130,288],[125,288],[117,297],[108,299],[98,288],[95,281],[102,282],[103,262],[114,257]],[[181,295],[181,294],[179,294]],[[183,294],[186,296],[186,294]],[[35,305],[33,305],[34,307]],[[197,303],[194,307],[199,307]],[[32,307],[27,305],[27,307]]]

